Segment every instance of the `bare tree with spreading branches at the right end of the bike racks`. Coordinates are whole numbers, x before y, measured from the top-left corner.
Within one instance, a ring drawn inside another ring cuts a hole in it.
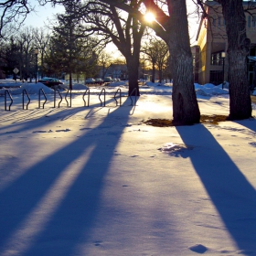
[[[138,9],[139,1],[132,1],[129,5]],[[129,73],[129,95],[139,95],[138,69],[144,25],[133,14],[118,10],[111,1],[107,4],[89,1],[80,14],[88,24],[88,32],[101,37],[105,43],[112,41],[123,54]]]

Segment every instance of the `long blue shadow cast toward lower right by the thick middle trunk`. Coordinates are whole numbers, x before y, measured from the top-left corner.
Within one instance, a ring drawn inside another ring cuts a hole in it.
[[[195,129],[196,128],[196,129]],[[191,162],[230,236],[243,255],[256,252],[256,192],[202,124],[176,127],[185,144],[196,145]],[[195,134],[199,137],[195,136]],[[254,255],[254,254],[253,254]]]

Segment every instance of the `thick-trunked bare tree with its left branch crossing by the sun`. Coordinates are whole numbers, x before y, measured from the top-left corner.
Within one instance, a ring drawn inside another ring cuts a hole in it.
[[[193,58],[191,54],[186,0],[142,0],[146,11],[155,13],[151,23],[144,21],[144,13],[139,8],[133,8],[129,1],[101,0],[115,5],[136,16],[144,25],[155,30],[170,52],[170,68],[173,74],[173,123],[185,125],[199,123],[200,112],[194,88]]]

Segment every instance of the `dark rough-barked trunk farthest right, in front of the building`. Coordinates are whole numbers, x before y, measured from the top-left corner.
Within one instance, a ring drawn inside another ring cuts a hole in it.
[[[222,5],[229,42],[229,119],[247,119],[251,117],[251,96],[247,81],[250,39],[246,37],[242,0],[219,0],[219,3]]]

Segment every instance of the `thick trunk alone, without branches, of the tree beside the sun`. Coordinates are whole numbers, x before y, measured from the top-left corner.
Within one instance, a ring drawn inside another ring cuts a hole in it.
[[[173,74],[173,123],[199,123],[200,112],[193,78],[193,59],[189,45],[186,0],[171,0],[168,39]]]

